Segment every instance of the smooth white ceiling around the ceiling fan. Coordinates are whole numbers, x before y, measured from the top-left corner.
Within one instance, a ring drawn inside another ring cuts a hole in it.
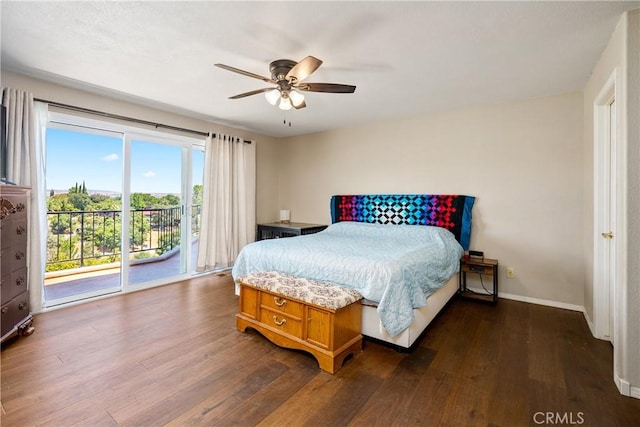
[[[3,69],[272,136],[581,90],[633,2],[8,2]],[[307,93],[285,113],[269,76],[313,55]],[[117,113],[117,112],[113,112]]]

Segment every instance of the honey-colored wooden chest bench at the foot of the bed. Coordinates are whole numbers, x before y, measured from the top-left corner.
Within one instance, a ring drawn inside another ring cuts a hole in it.
[[[290,281],[298,279],[289,276]],[[326,299],[293,298],[281,288],[261,289],[256,283],[252,278],[238,280],[238,330],[253,328],[276,345],[307,351],[322,370],[332,374],[347,356],[362,351],[361,297],[342,307],[330,308],[328,305],[335,305],[327,304]]]

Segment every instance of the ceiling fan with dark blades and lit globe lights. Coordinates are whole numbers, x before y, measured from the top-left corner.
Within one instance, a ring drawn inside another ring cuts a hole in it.
[[[306,107],[307,104],[304,102],[304,95],[301,92],[355,92],[356,87],[351,85],[303,82],[303,80],[316,71],[320,65],[322,65],[322,61],[313,56],[307,56],[300,62],[295,62],[290,59],[277,59],[269,64],[269,71],[271,72],[271,78],[269,78],[249,71],[240,70],[239,68],[230,67],[228,65],[215,64],[216,67],[224,70],[233,71],[234,73],[253,77],[254,79],[276,85],[275,88],[267,87],[230,96],[229,99],[239,99],[246,96],[256,95],[258,93],[264,93],[267,101],[271,105],[278,104],[281,110],[290,110],[292,107],[296,109]]]

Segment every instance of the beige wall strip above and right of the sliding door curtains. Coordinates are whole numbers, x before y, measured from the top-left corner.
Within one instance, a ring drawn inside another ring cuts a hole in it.
[[[64,87],[24,75],[2,71],[2,86],[24,89],[33,93],[35,98],[60,102],[111,114],[134,117],[154,123],[183,127],[203,132],[221,132],[256,141],[256,219],[258,222],[270,221],[272,212],[277,209],[278,194],[278,139],[241,129],[225,127],[216,123],[188,117],[184,114],[144,107],[107,96],[90,94],[81,90]],[[187,134],[193,136],[192,134]]]

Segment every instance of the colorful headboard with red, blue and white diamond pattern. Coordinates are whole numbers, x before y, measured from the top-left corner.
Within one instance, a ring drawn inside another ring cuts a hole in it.
[[[475,197],[446,194],[363,194],[331,197],[331,222],[435,225],[469,249]]]

